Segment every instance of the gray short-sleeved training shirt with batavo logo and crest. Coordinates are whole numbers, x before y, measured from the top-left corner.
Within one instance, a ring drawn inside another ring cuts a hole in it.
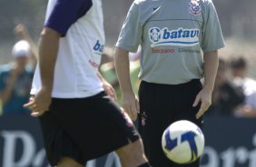
[[[211,0],[135,0],[116,46],[136,52],[139,44],[139,78],[167,84],[202,78],[202,52],[224,47]]]

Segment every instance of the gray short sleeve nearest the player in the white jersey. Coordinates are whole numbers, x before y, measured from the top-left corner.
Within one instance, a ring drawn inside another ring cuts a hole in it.
[[[133,2],[126,15],[116,46],[129,52],[136,52],[142,40],[142,34],[139,5]]]

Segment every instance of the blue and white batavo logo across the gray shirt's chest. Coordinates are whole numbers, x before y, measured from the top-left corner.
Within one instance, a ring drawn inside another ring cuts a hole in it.
[[[179,45],[179,46],[193,46],[199,44],[200,30],[178,28],[169,30],[167,27],[160,29],[159,27],[152,27],[149,29],[149,39],[151,47],[160,45]]]

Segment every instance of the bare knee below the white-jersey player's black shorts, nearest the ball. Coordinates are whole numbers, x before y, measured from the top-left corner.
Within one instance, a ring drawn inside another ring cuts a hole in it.
[[[148,162],[143,152],[141,139],[130,142],[128,145],[116,150],[123,167],[137,167]]]

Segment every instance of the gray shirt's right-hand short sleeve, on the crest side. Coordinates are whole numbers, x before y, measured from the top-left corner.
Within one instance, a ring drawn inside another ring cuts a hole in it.
[[[218,50],[225,46],[220,21],[212,1],[204,2],[205,12],[202,25],[202,51]]]

